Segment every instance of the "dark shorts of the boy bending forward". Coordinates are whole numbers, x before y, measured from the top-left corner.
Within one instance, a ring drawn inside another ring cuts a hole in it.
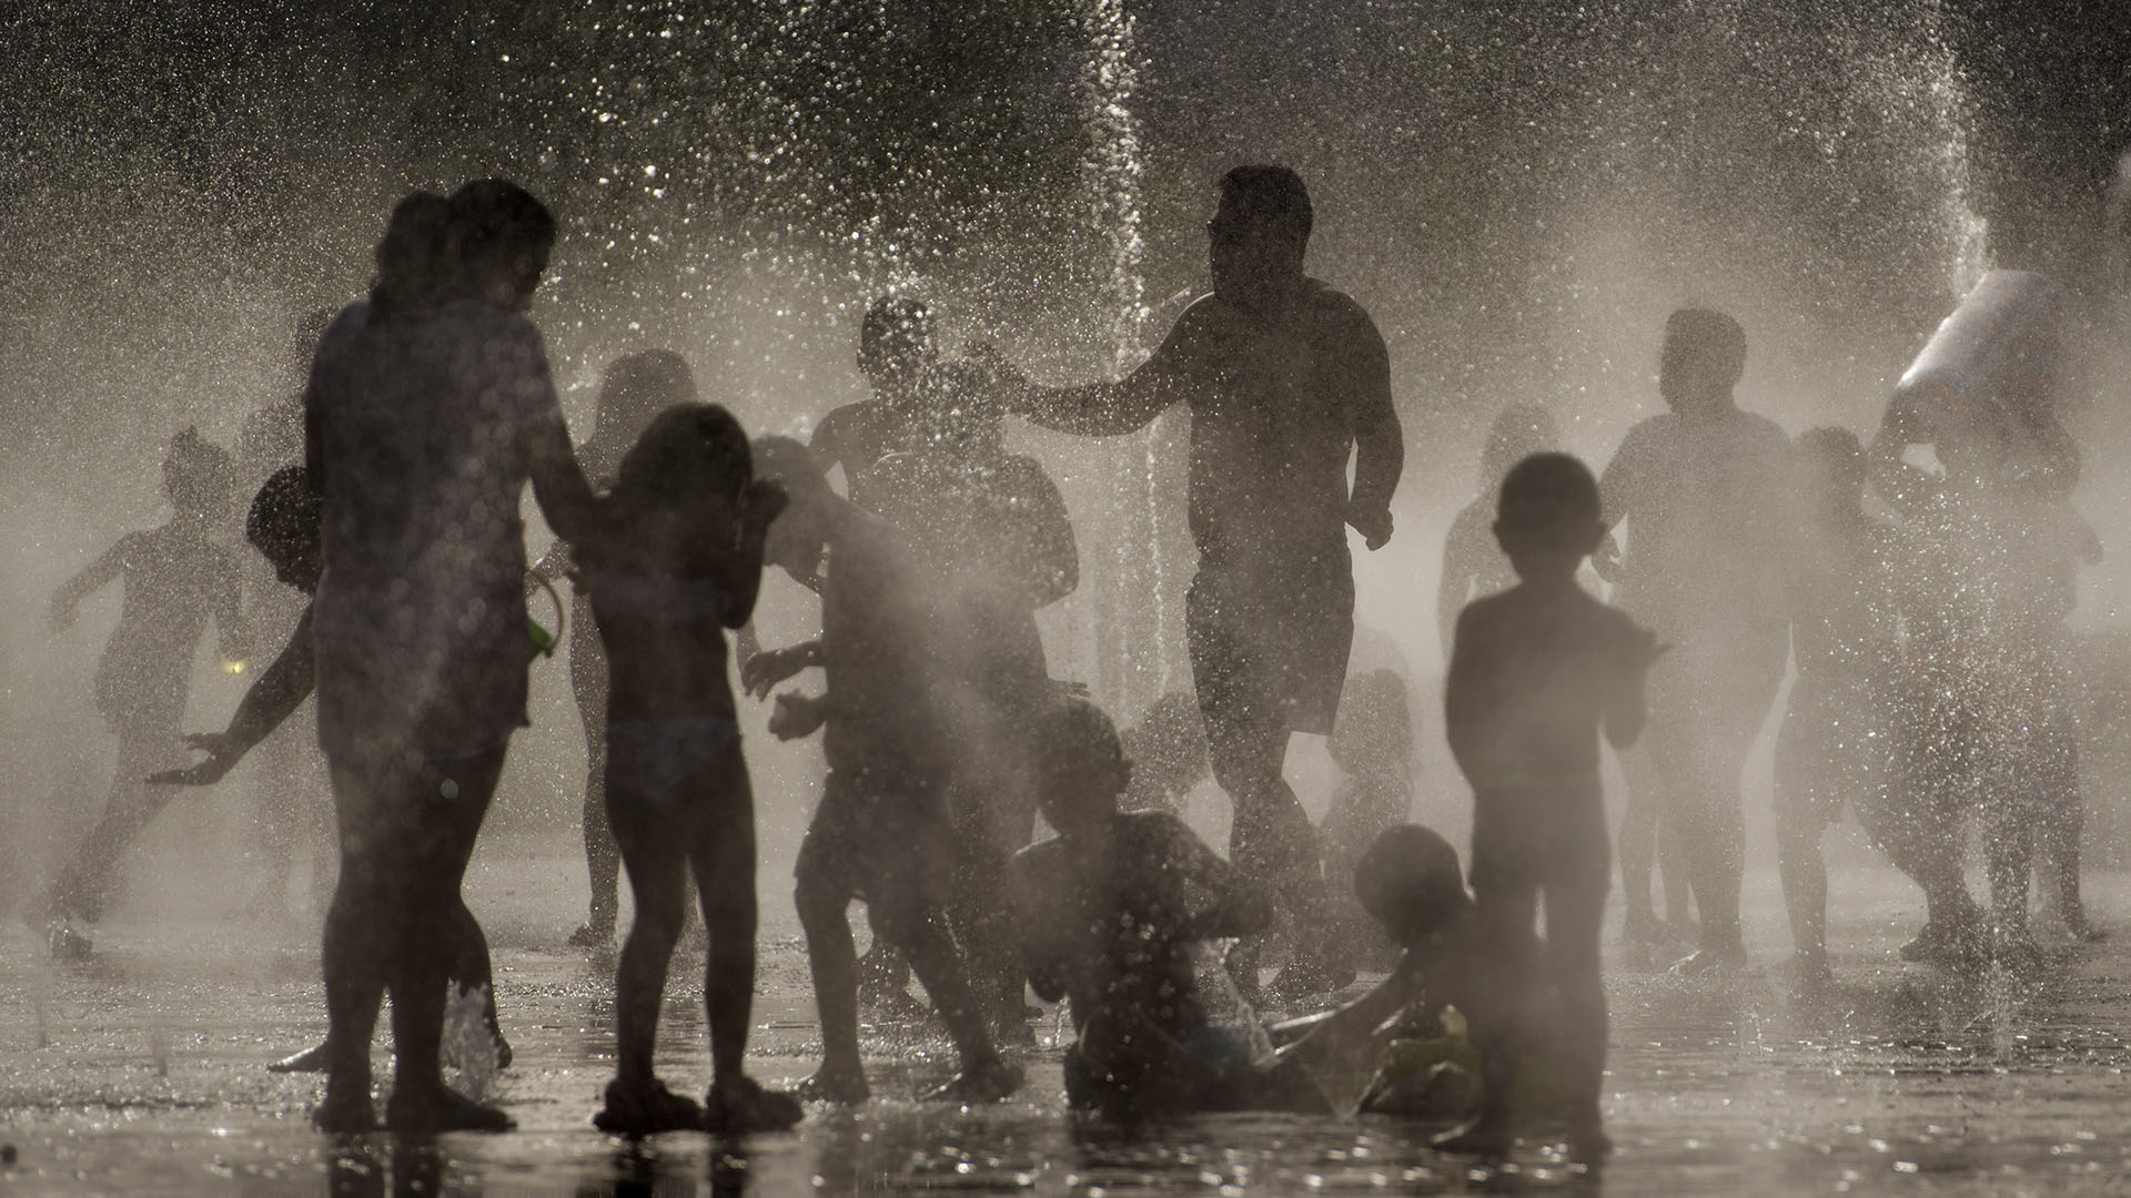
[[[793,874],[872,906],[944,908],[955,883],[944,795],[914,778],[831,770]]]

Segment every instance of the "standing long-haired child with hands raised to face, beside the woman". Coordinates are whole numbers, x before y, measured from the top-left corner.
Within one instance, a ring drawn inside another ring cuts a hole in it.
[[[618,1068],[605,1132],[782,1130],[799,1102],[746,1074],[754,998],[754,795],[725,684],[725,629],[754,612],[763,537],[784,492],[752,477],[746,435],[722,407],[658,414],[622,458],[601,541],[578,554],[607,646],[607,819],[635,921],[616,972]],[[688,876],[710,929],[703,1002],[705,1106],[652,1074],[667,961]]]

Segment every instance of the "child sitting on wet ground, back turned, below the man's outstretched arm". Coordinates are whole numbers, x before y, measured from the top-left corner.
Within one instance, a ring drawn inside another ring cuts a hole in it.
[[[1121,1117],[1294,1106],[1206,1017],[1191,968],[1195,940],[1266,929],[1266,897],[1174,814],[1117,810],[1132,763],[1093,703],[1061,701],[1034,742],[1057,836],[1014,855],[1008,893],[1029,983],[1072,1004],[1068,1100]]]

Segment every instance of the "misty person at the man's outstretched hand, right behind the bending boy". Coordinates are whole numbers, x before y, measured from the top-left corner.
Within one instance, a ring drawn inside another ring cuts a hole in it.
[[[1002,1036],[1027,1038],[1006,861],[1036,836],[1031,738],[1057,697],[1036,612],[1080,582],[1066,501],[1044,467],[1006,452],[1004,411],[967,362],[927,384],[918,448],[874,465],[874,509],[904,531],[931,580],[940,710],[955,750],[955,936]],[[899,989],[899,985],[897,985]]]

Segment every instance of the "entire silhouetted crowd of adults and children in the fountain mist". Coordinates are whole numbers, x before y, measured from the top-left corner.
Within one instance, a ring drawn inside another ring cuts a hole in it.
[[[2037,865],[2071,934],[2099,936],[2078,895],[2063,631],[2099,541],[2067,499],[2078,454],[2054,411],[2048,281],[1986,277],[1869,443],[1790,439],[1743,411],[1747,337],[1709,309],[1666,322],[1666,411],[1603,473],[1558,452],[1543,405],[1507,407],[1436,597],[1445,729],[1475,795],[1460,865],[1411,823],[1404,680],[1349,676],[1347,531],[1370,550],[1392,537],[1404,439],[1383,337],[1304,273],[1311,226],[1294,171],[1223,177],[1213,290],[1123,379],[1036,386],[987,345],[950,360],[933,313],[889,296],[861,328],[872,399],[823,416],[810,443],[750,439],[665,350],[607,369],[573,443],[526,318],[556,245],[550,211],[499,179],[407,196],[369,296],[305,333],[300,403],[254,416],[234,456],[181,433],[170,522],[55,597],[64,625],[124,580],[96,671],[119,767],[34,919],[53,953],[90,953],[121,853],[175,787],[219,780],[315,695],[339,840],[328,1032],[273,1068],[326,1074],[322,1130],[375,1128],[371,1040],[390,993],[384,1123],[509,1130],[503,1108],[445,1085],[445,1010],[475,995],[477,1051],[509,1064],[460,883],[526,725],[528,665],[556,648],[528,595],[567,586],[592,895],[571,944],[609,944],[624,874],[633,895],[616,1076],[595,1117],[616,1134],[782,1130],[806,1100],[863,1102],[861,1006],[923,1006],[906,993],[916,974],[959,1057],[929,1098],[1023,1085],[1034,989],[1070,1008],[1066,1091],[1083,1108],[1325,1108],[1315,1074],[1360,1062],[1374,1070],[1364,1108],[1460,1123],[1445,1151],[1500,1160],[1522,1130],[1562,1126],[1596,1164],[1615,857],[1600,742],[1628,776],[1626,940],[1692,936],[1677,972],[1739,970],[1741,772],[1786,669],[1775,823],[1803,985],[1831,976],[1820,842],[1845,810],[1924,893],[1909,959],[2037,968]],[[1123,435],[1178,407],[1193,686],[1119,731],[1051,674],[1036,614],[1076,588],[1078,550],[1059,488],[1006,428]],[[262,475],[245,535],[298,599],[247,614],[241,595],[271,588],[245,582],[262,567],[217,529]],[[531,567],[528,484],[558,537]],[[767,567],[818,599],[818,637],[759,644]],[[1600,582],[1617,605],[1594,597]],[[209,620],[226,659],[269,629],[286,648],[226,731],[185,738]],[[759,887],[729,633],[742,691],[774,703],[769,731],[818,733],[827,761],[795,870],[823,1062],[795,1094],[746,1072]],[[808,671],[818,686],[780,691]],[[1296,731],[1330,735],[1347,774],[1321,825],[1285,778]],[[188,744],[205,757],[188,761]],[[1178,816],[1206,776],[1234,804],[1225,857]],[[286,797],[269,810],[286,885],[305,816]],[[1036,840],[1038,816],[1053,836]],[[1986,831],[1988,904],[1963,878],[1969,823]],[[707,936],[701,1102],[652,1068],[690,895]],[[863,957],[852,902],[872,927]],[[1227,940],[1225,978],[1208,983],[1202,946]],[[1357,968],[1387,974],[1340,1004]],[[1251,1008],[1304,1015],[1268,1030]]]

